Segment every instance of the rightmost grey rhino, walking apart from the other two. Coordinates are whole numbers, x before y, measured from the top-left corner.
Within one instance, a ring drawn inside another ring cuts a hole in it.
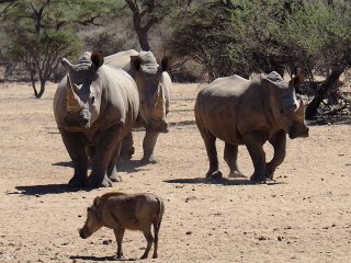
[[[294,89],[302,80],[302,76],[296,76],[287,83],[274,71],[253,81],[234,75],[218,78],[199,92],[194,111],[210,159],[206,178],[223,176],[215,145],[219,138],[225,141],[224,159],[230,169],[229,176],[244,176],[237,155],[238,146],[246,145],[254,168],[251,181],[273,179],[285,158],[286,134],[291,139],[308,136],[304,104]],[[265,141],[274,149],[268,163]]]

